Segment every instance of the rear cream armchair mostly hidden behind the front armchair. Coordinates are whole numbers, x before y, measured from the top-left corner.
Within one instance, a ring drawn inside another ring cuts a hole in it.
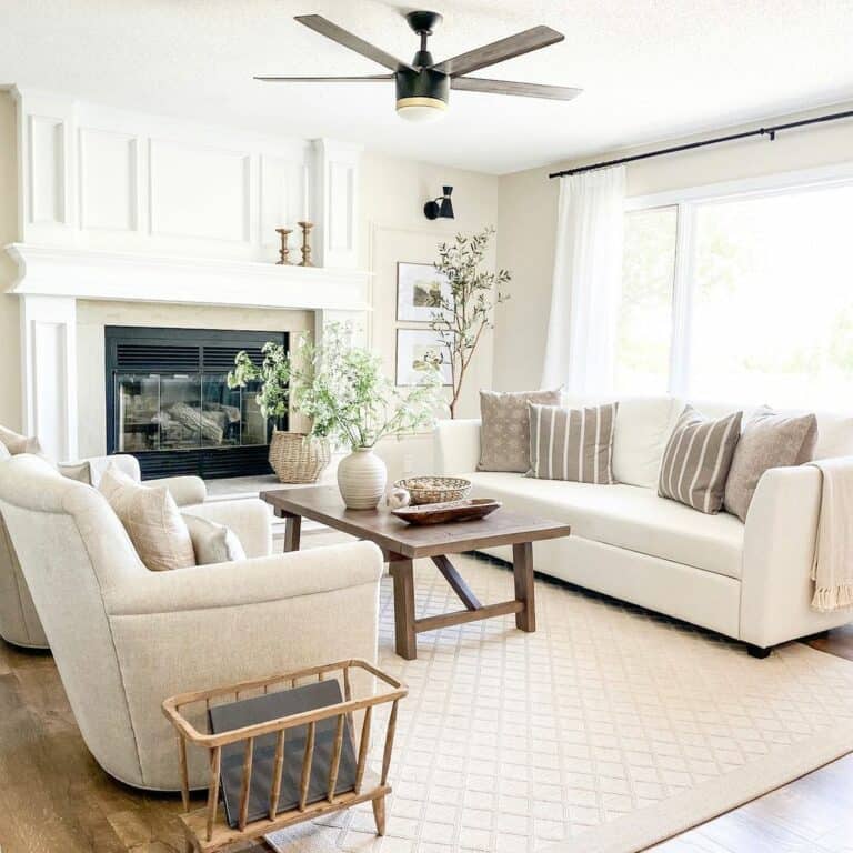
[[[9,459],[3,453],[3,464]],[[91,472],[97,481],[100,472],[108,464],[117,465],[128,476],[139,482],[141,473],[139,462],[134,456],[118,454],[114,456],[94,456],[70,464],[60,465],[60,470],[71,472]],[[97,484],[97,482],[96,482]],[[162,480],[149,481],[151,485],[165,485],[179,506],[191,506],[202,503],[207,498],[204,481],[198,476],[170,476]],[[9,535],[0,515],[0,636],[9,643],[29,649],[48,649],[48,640],[41,626],[39,614],[32,605],[32,598],[27,589],[27,581],[21,574],[18,556],[9,540]]]

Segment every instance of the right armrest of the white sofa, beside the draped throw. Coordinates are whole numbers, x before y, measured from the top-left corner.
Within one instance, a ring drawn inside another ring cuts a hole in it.
[[[821,472],[773,468],[759,481],[743,542],[740,639],[763,648],[843,624],[850,613],[812,610],[812,560]]]

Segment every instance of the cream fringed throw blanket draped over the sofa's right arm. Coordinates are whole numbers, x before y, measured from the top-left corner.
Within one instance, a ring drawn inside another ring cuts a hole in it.
[[[853,458],[810,464],[820,469],[823,479],[812,608],[829,612],[853,606]]]

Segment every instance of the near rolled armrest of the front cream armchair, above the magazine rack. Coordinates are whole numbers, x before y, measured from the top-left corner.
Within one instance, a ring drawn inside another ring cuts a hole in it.
[[[313,548],[173,572],[143,572],[104,592],[112,616],[184,613],[267,604],[379,584],[382,552],[372,542]]]

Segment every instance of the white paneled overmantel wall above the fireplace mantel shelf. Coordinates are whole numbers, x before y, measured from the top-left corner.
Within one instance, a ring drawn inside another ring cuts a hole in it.
[[[315,265],[357,265],[359,150],[16,90],[22,242],[274,261],[315,222]],[[323,245],[325,245],[325,251]]]

